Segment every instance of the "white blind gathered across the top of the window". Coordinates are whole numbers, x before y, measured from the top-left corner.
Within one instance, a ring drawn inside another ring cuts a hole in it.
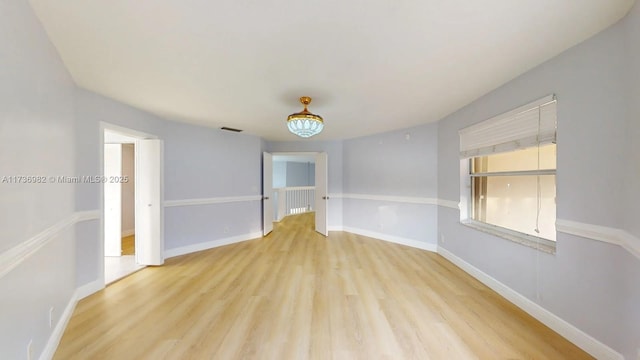
[[[460,157],[524,149],[556,141],[557,102],[549,95],[461,129]]]

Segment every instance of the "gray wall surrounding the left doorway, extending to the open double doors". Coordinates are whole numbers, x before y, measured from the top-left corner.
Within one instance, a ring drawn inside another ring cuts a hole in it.
[[[261,140],[160,119],[85,90],[76,92],[78,172],[100,174],[100,121],[164,140],[165,201],[259,195]],[[100,187],[82,184],[78,209],[100,207]],[[260,201],[165,208],[165,250],[259,232]],[[78,244],[78,276],[98,278],[100,228],[83,227]],[[80,282],[78,285],[82,285]]]

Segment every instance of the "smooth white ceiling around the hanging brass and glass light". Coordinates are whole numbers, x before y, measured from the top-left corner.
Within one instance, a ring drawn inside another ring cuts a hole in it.
[[[440,120],[634,0],[30,0],[78,86],[164,118],[298,140]],[[540,94],[545,95],[545,94]]]

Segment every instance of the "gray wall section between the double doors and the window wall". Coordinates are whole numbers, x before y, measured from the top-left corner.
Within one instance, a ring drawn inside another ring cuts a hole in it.
[[[344,193],[421,197],[438,195],[438,127],[345,140]],[[437,243],[437,206],[376,200],[343,200],[345,228]]]

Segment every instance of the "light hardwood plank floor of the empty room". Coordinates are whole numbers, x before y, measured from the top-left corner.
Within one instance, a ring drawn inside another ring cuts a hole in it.
[[[441,256],[313,215],[79,302],[55,359],[589,359]]]

